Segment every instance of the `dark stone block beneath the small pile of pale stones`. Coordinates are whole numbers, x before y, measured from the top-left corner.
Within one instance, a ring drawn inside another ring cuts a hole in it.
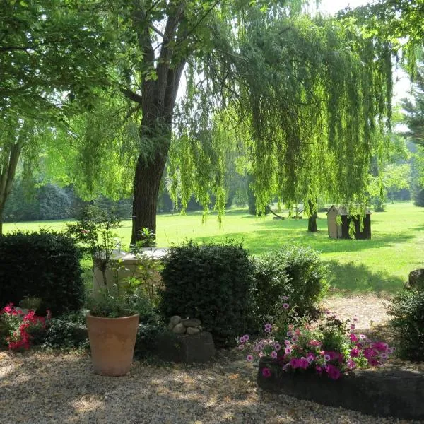
[[[203,331],[189,336],[188,334],[163,334],[158,337],[156,348],[162,360],[180,363],[206,363],[215,355],[212,334]]]

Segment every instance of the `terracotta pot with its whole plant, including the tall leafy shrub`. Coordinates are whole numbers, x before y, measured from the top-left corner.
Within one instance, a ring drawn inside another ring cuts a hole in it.
[[[102,272],[102,284],[87,302],[86,321],[94,370],[110,376],[125,375],[131,368],[142,300],[137,293],[121,293],[118,281],[107,279],[120,246],[112,232],[118,227],[117,218],[93,206],[83,211],[77,223],[68,224],[68,234],[90,252],[93,265]]]

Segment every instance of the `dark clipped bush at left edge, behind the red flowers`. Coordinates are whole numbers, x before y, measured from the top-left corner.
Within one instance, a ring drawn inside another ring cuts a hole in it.
[[[53,317],[83,305],[81,252],[57,232],[13,232],[0,237],[0,305],[41,298],[37,312]]]

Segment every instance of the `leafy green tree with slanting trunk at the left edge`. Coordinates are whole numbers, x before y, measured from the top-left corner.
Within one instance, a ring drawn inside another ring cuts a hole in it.
[[[93,13],[95,1],[1,2],[0,8],[0,234],[13,178],[25,155],[28,177],[46,134],[66,117],[93,108],[106,88],[110,36]]]

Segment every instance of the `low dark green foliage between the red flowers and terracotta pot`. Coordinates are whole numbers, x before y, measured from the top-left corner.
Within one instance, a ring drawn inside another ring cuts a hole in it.
[[[50,319],[41,346],[64,350],[87,348],[86,315],[77,311]]]

